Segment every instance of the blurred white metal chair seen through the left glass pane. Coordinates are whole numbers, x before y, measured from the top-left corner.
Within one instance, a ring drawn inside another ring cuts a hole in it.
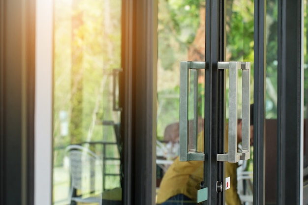
[[[80,145],[70,145],[65,149],[69,159],[71,187],[68,204],[102,203],[102,162],[94,152]],[[95,178],[96,177],[96,178]],[[99,180],[101,178],[101,181]],[[96,184],[95,184],[96,183]],[[99,189],[95,189],[98,187]],[[99,191],[99,196],[93,196]],[[78,196],[77,196],[78,192]]]

